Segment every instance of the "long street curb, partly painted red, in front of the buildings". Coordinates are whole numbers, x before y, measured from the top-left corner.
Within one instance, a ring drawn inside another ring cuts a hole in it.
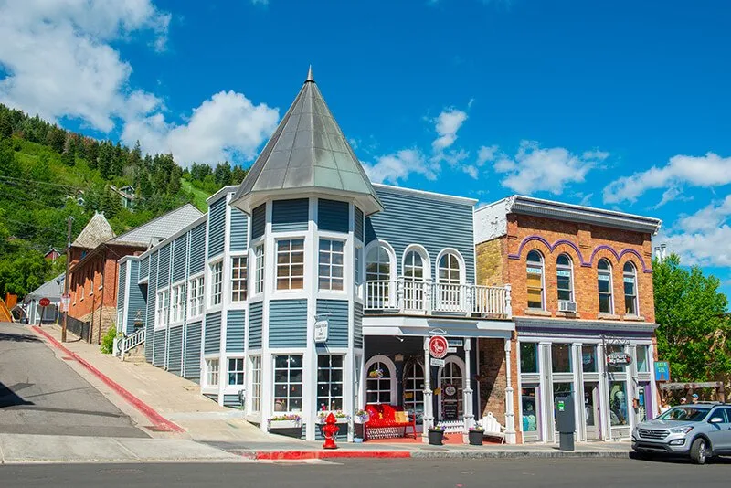
[[[325,459],[628,459],[629,451],[238,451],[255,461]]]

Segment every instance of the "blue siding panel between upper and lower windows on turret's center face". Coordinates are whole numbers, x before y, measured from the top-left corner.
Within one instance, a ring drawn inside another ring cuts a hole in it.
[[[307,345],[307,300],[272,300],[269,308],[270,347]]]

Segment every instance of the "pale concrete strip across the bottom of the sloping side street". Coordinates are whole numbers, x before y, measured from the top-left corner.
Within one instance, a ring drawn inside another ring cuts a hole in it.
[[[193,440],[0,434],[0,464],[141,461],[246,460]]]

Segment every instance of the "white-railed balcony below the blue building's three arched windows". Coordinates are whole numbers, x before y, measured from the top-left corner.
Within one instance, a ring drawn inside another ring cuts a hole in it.
[[[407,279],[365,281],[366,313],[463,315],[509,319],[510,285],[478,286]]]

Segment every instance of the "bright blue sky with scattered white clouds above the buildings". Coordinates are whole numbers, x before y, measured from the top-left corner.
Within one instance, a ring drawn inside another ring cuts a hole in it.
[[[660,217],[731,292],[726,2],[0,0],[0,101],[247,166],[313,65],[376,181]]]

